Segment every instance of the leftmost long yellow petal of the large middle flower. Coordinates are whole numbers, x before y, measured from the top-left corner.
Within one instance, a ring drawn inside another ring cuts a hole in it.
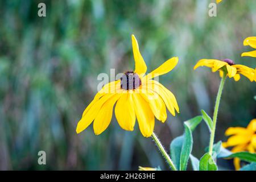
[[[93,105],[90,106],[88,111],[82,116],[79,123],[77,123],[76,133],[80,133],[81,131],[85,130],[86,127],[92,123],[92,121],[96,118],[98,112],[101,109],[101,106],[108,101],[114,94],[106,94],[102,96],[100,100],[94,102]],[[89,106],[88,106],[89,107]]]

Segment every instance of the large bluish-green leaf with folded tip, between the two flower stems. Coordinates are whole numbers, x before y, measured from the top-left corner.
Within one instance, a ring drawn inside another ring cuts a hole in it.
[[[180,137],[175,138],[171,142],[170,151],[171,159],[174,162],[176,168],[180,171],[187,169],[189,155],[192,151],[192,131],[195,130],[196,126],[202,121],[201,116],[189,119],[184,122],[185,132]]]

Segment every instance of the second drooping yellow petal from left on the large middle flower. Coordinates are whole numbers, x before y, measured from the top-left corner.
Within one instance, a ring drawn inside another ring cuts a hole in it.
[[[115,94],[112,98],[106,101],[104,105],[102,105],[93,122],[93,130],[96,135],[100,135],[109,126],[112,119],[114,104],[120,96],[121,94]]]

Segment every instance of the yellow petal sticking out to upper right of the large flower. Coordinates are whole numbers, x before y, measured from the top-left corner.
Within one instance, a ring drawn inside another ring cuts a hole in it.
[[[160,67],[156,68],[154,71],[149,73],[146,76],[146,79],[151,79],[156,76],[164,75],[170,72],[172,69],[174,69],[174,67],[176,67],[178,61],[179,61],[178,57],[172,57],[171,59],[168,59],[166,62],[160,65]]]

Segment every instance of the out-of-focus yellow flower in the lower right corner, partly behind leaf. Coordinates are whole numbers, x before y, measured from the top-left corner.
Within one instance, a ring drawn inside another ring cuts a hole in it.
[[[229,137],[227,142],[222,143],[223,147],[233,147],[232,152],[249,151],[256,152],[256,119],[251,120],[249,125],[244,127],[229,127],[225,135]],[[240,159],[234,158],[236,170],[240,169]]]

